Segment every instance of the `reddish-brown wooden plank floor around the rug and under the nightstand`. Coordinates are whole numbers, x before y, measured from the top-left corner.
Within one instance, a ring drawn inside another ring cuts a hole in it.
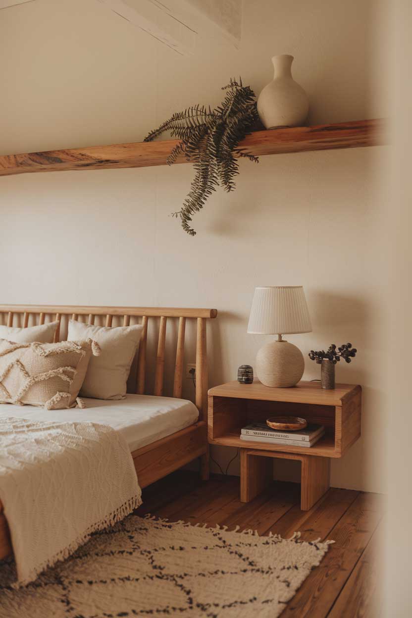
[[[151,513],[232,530],[253,528],[289,538],[334,540],[321,565],[314,569],[282,618],[378,618],[379,547],[383,496],[330,488],[312,509],[299,508],[300,486],[274,481],[271,488],[248,503],[240,502],[239,478],[214,475],[203,482],[193,472],[178,471],[143,490],[138,515]]]

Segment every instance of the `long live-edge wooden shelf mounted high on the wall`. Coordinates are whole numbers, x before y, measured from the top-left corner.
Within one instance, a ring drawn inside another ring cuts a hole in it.
[[[66,150],[0,156],[0,176],[27,172],[58,172],[77,169],[111,169],[166,165],[179,140],[136,142],[109,146],[86,146]],[[309,150],[358,148],[386,143],[382,119],[338,122],[314,127],[255,131],[240,143],[253,155],[275,155]],[[177,163],[188,163],[180,156]]]

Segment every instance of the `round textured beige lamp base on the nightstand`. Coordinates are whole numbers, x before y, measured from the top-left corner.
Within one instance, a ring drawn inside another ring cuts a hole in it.
[[[272,341],[263,345],[256,355],[256,375],[265,386],[295,386],[304,370],[303,354],[288,341]]]

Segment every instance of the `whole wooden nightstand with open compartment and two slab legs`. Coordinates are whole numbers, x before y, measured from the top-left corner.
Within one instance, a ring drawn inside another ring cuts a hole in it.
[[[297,416],[325,426],[310,448],[240,439],[247,423],[273,416]],[[273,480],[272,459],[301,462],[301,509],[309,510],[329,489],[330,458],[342,457],[361,435],[361,387],[302,381],[292,388],[271,388],[237,381],[209,390],[209,444],[240,448],[240,499],[249,502]]]

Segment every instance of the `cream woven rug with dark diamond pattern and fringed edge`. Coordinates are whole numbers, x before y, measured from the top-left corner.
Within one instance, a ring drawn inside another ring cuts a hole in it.
[[[0,616],[275,618],[328,547],[129,515],[26,588],[0,562]]]

